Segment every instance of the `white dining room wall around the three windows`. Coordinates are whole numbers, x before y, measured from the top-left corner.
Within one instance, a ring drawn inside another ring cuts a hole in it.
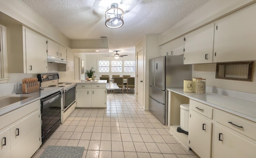
[[[114,55],[114,53],[112,54]],[[98,60],[116,60],[115,58],[109,57],[112,55],[86,55],[86,62],[85,62],[85,70],[90,70],[92,67],[93,70],[96,71],[94,75],[96,79],[100,79],[102,74],[108,74],[110,78],[112,75],[131,75],[131,77],[135,77],[135,72],[98,72]],[[128,56],[124,56],[123,58],[119,58],[118,60],[135,60],[135,54],[128,54]],[[111,61],[110,61],[111,63]]]

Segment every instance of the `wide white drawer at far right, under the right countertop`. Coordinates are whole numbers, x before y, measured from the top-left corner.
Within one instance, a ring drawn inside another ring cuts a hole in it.
[[[228,114],[226,112],[221,112],[216,110],[216,121],[224,126],[227,126],[245,136],[248,136],[256,140],[256,123],[250,122],[239,116]]]

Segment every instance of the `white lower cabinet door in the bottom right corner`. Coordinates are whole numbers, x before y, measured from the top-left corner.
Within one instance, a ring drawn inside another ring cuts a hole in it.
[[[255,158],[256,145],[215,125],[213,158]]]

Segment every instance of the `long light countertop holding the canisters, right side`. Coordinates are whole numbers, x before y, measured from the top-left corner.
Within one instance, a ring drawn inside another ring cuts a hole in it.
[[[168,88],[167,90],[256,122],[256,102],[209,92],[206,94],[183,92],[183,88]]]

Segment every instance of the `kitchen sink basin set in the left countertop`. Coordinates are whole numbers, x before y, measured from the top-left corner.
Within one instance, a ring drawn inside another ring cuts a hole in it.
[[[4,108],[5,106],[11,106],[13,104],[21,103],[25,100],[33,98],[33,96],[6,96],[0,98],[0,109]]]

